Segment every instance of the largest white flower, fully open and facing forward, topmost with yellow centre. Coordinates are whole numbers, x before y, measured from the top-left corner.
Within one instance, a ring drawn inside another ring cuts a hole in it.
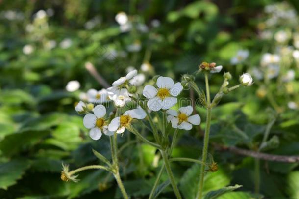
[[[167,110],[177,103],[176,96],[181,93],[183,86],[175,83],[169,77],[157,79],[158,89],[152,85],[146,85],[142,94],[149,99],[148,107],[152,111]]]

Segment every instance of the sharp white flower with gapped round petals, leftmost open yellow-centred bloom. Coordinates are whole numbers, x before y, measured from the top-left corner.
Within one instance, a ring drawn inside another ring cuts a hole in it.
[[[83,118],[83,124],[90,129],[89,136],[93,140],[99,140],[104,133],[107,136],[112,136],[113,132],[108,130],[108,124],[105,120],[106,108],[103,105],[97,105],[94,108],[94,114],[86,114]]]

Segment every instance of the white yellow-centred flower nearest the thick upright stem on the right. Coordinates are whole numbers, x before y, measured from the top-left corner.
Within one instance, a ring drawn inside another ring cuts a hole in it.
[[[166,111],[167,114],[167,121],[171,122],[173,128],[178,129],[185,129],[191,130],[192,125],[199,125],[200,124],[200,116],[198,114],[192,115],[193,108],[192,106],[181,107],[178,109],[178,112],[169,109]]]

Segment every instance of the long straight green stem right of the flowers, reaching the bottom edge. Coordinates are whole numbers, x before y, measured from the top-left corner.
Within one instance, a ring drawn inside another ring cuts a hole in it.
[[[208,155],[208,145],[209,145],[209,134],[210,134],[210,127],[211,127],[211,98],[210,98],[210,88],[209,88],[209,80],[208,80],[208,73],[204,73],[205,78],[205,87],[206,87],[206,97],[207,97],[207,116],[206,116],[206,127],[204,132],[204,141],[203,141],[203,149],[202,149],[202,159],[201,162],[203,163],[200,168],[200,176],[199,176],[199,189],[197,194],[197,199],[202,198],[202,188],[204,183],[204,171],[206,165],[206,159]]]

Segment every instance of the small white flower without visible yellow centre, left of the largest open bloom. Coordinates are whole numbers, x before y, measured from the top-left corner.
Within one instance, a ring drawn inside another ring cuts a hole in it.
[[[119,89],[117,86],[107,88],[109,99],[113,100],[116,107],[124,107],[125,104],[131,101],[129,92],[125,88]]]

